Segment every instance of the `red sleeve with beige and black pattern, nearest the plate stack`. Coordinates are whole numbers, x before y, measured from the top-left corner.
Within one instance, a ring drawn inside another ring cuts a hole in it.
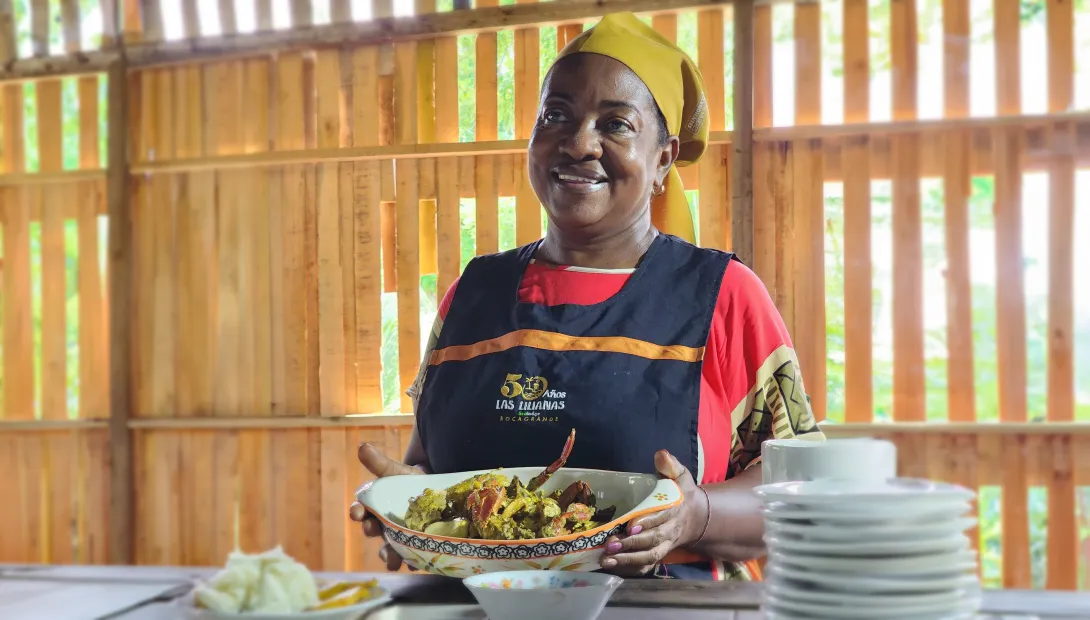
[[[749,389],[731,416],[728,478],[760,463],[761,443],[767,439],[825,439],[810,409],[787,326],[767,289],[749,268],[732,264],[730,269],[731,329],[742,335],[731,349],[744,360]]]

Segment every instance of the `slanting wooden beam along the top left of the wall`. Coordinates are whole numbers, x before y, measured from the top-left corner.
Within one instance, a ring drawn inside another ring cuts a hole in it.
[[[181,41],[136,42],[126,45],[123,52],[102,50],[13,60],[0,66],[0,82],[101,72],[118,58],[119,53],[125,54],[131,69],[138,69],[289,50],[354,47],[389,42],[395,39],[404,41],[550,26],[594,20],[616,11],[654,15],[730,3],[730,0],[559,0],[296,27],[289,31],[201,37]]]

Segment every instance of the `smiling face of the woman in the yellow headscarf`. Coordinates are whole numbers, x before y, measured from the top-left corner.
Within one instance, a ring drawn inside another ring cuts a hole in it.
[[[658,108],[631,70],[605,56],[572,54],[542,86],[530,183],[552,224],[609,234],[645,214],[677,144],[676,137],[662,143]]]

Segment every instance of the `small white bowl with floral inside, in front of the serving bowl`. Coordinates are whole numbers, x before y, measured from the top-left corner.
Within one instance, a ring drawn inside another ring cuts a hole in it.
[[[489,620],[594,620],[623,581],[603,573],[511,571],[462,583]]]

